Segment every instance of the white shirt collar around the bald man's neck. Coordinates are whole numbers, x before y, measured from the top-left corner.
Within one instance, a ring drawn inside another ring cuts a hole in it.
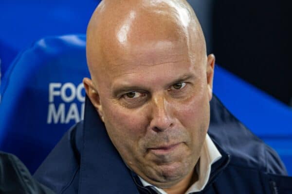
[[[217,162],[221,158],[221,154],[217,147],[214,145],[213,141],[206,135],[206,140],[203,144],[200,160],[196,165],[196,171],[199,176],[198,180],[185,192],[185,194],[190,194],[193,192],[199,192],[203,190],[210,178],[211,165]],[[139,176],[138,176],[139,177]],[[164,190],[149,184],[143,178],[139,177],[143,186],[150,186],[152,189],[156,190],[157,194],[167,194]]]

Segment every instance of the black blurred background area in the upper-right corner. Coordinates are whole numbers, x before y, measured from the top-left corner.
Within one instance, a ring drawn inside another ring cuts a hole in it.
[[[292,106],[292,1],[189,2],[216,63]]]

